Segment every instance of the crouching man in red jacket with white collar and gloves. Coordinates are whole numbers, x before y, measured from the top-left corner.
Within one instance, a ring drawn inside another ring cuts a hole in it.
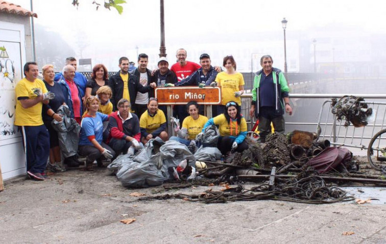
[[[118,111],[110,114],[109,137],[106,143],[116,152],[115,156],[121,152],[133,155],[135,150],[142,146],[140,142],[139,120],[135,114],[130,113],[130,102],[122,98],[117,103]]]

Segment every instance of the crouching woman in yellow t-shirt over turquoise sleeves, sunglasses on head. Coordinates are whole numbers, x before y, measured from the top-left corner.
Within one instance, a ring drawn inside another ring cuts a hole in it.
[[[235,150],[242,152],[248,148],[245,141],[247,135],[247,122],[243,115],[240,114],[240,106],[235,101],[225,104],[225,112],[205,123],[202,132],[197,138],[202,138],[204,129],[210,125],[219,125],[220,137],[217,147],[223,155],[229,151]]]

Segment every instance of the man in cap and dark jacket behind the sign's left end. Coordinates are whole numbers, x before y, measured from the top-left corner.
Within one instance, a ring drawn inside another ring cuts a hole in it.
[[[158,87],[163,87],[165,84],[176,84],[177,76],[174,72],[172,72],[169,68],[169,63],[167,62],[166,57],[161,57],[158,60],[158,70],[154,72],[154,77],[157,81]],[[149,97],[154,97],[154,90],[150,91]],[[162,112],[167,117],[167,109],[166,105],[158,106],[158,109],[162,110]],[[167,121],[168,118],[166,118]]]

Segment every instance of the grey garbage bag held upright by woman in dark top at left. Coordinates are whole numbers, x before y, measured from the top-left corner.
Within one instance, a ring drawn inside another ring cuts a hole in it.
[[[52,127],[58,131],[59,147],[65,158],[77,155],[80,125],[70,117],[67,105],[61,105],[56,111],[62,116],[63,121],[52,120]]]

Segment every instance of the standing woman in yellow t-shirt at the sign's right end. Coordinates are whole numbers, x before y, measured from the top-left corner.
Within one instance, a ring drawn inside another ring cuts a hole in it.
[[[226,56],[223,60],[225,71],[217,74],[215,82],[221,87],[221,105],[217,106],[217,114],[223,114],[225,104],[230,101],[241,106],[241,95],[244,93],[244,77],[242,73],[236,72],[236,62],[233,56]],[[214,84],[215,85],[215,84]]]

